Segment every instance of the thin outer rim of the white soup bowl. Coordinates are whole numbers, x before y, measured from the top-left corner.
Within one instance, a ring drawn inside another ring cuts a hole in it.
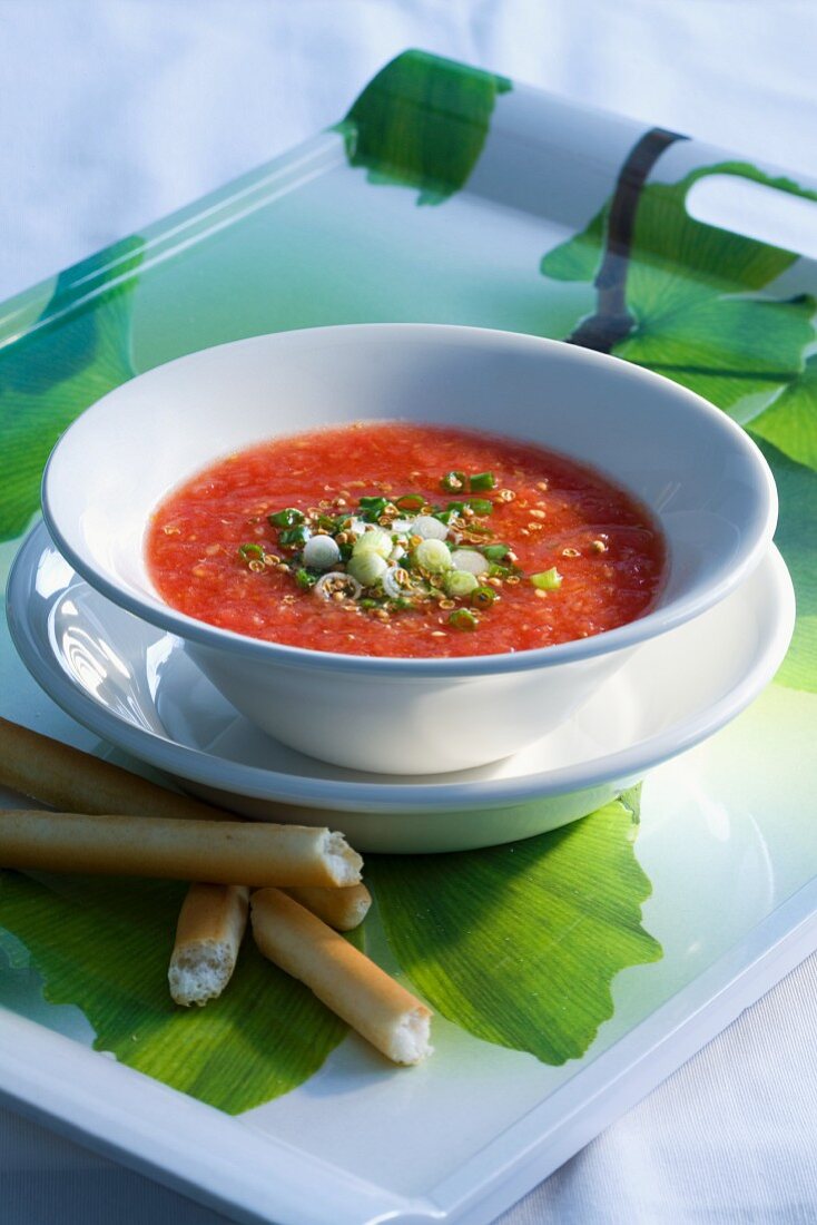
[[[704,583],[702,590],[697,594],[685,595],[681,593],[668,604],[659,604],[634,621],[628,621],[615,630],[606,630],[589,638],[578,638],[550,647],[535,647],[518,652],[443,658],[403,658],[391,655],[347,655],[338,652],[314,650],[306,647],[294,647],[287,643],[251,638],[233,630],[223,630],[208,625],[205,621],[198,621],[195,617],[176,611],[170,605],[162,604],[158,598],[156,601],[149,601],[125,590],[109,578],[107,572],[97,567],[92,560],[73,549],[70,539],[61,530],[59,519],[51,510],[49,491],[65,440],[77,423],[83,420],[88,413],[104,410],[102,405],[105,405],[109,399],[116,396],[122,388],[129,387],[135,380],[149,377],[168,366],[175,368],[180,364],[194,361],[203,353],[241,347],[260,347],[268,344],[271,339],[274,343],[276,338],[284,338],[280,343],[294,342],[298,344],[307,343],[321,336],[343,334],[344,339],[354,343],[356,334],[360,336],[360,339],[365,339],[376,334],[386,337],[390,333],[392,337],[404,336],[405,338],[432,339],[435,343],[445,343],[447,341],[475,344],[501,343],[530,352],[539,350],[545,354],[548,352],[561,353],[570,348],[579,361],[584,361],[592,366],[600,366],[610,372],[614,379],[623,377],[634,382],[646,382],[653,386],[660,394],[666,396],[669,393],[677,401],[679,405],[683,405],[686,412],[706,419],[712,429],[724,435],[753,466],[757,478],[755,492],[758,506],[755,516],[756,529],[751,544],[744,544],[735,564],[723,572],[718,581]],[[593,349],[571,345],[566,341],[554,341],[546,337],[530,336],[524,332],[508,332],[500,328],[481,328],[456,323],[339,323],[326,327],[262,333],[240,341],[229,341],[224,344],[208,345],[203,349],[184,354],[180,358],[174,358],[171,361],[153,366],[151,370],[136,375],[135,380],[120,383],[119,387],[113,388],[99,397],[93,404],[88,405],[65,430],[51,450],[42,479],[43,518],[45,519],[49,534],[59,551],[77,573],[114,604],[185,641],[214,650],[227,650],[246,660],[267,664],[274,663],[280,666],[296,669],[317,668],[336,673],[356,673],[372,677],[405,675],[419,680],[519,673],[530,669],[555,668],[577,660],[594,659],[599,655],[608,655],[636,647],[641,642],[646,642],[649,638],[665,633],[675,626],[682,625],[719,603],[759,564],[772,541],[777,524],[778,496],[769,466],[746,431],[728,417],[725,412],[695,392],[688,391],[688,388],[682,387],[680,383],[654,374],[652,370],[627,363],[611,354],[597,353]]]

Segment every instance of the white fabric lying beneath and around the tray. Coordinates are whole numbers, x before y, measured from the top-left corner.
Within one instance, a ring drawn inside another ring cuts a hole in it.
[[[815,0],[0,0],[0,299],[338,119],[407,47],[817,178]],[[817,1220],[817,958],[502,1218]],[[0,1111],[4,1225],[223,1218]]]

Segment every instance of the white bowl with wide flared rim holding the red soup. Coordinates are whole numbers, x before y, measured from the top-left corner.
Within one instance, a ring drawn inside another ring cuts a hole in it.
[[[668,579],[653,610],[537,650],[383,659],[247,638],[160,599],[145,534],[170,489],[263,439],[383,418],[501,432],[606,473],[665,533]],[[777,495],[744,431],[676,383],[554,341],[387,323],[239,341],[124,383],[58,442],[43,510],[78,573],[183,638],[216,687],[263,730],[339,766],[429,774],[496,761],[540,739],[639,643],[721,600],[764,555]]]

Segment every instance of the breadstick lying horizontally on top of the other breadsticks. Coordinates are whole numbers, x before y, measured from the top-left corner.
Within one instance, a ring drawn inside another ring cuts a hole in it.
[[[0,865],[220,884],[358,884],[342,834],[306,826],[0,811]]]

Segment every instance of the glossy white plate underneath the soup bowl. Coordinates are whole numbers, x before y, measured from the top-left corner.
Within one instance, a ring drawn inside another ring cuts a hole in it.
[[[794,593],[770,549],[728,599],[644,643],[556,731],[505,761],[427,778],[347,771],[271,740],[178,638],[81,579],[42,524],[15,560],[7,611],[22,659],[69,714],[189,790],[247,816],[326,824],[332,812],[361,850],[413,853],[556,828],[710,736],[774,675],[791,637]]]

